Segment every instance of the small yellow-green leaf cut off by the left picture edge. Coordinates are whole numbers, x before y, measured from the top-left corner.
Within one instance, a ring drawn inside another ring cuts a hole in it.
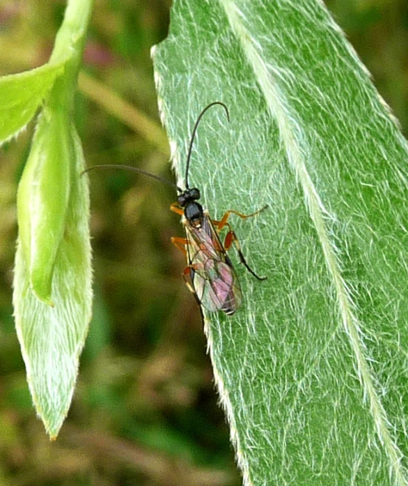
[[[45,64],[26,73],[0,77],[0,142],[29,123],[61,73],[61,64]]]

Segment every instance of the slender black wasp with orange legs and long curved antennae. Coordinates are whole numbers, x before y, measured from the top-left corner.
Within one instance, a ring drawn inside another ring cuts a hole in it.
[[[171,181],[167,181],[160,176],[146,172],[138,167],[111,164],[94,165],[84,172],[97,168],[128,169],[150,176],[175,188],[178,192],[178,198],[177,202],[171,204],[170,208],[171,211],[183,217],[182,222],[185,227],[185,238],[173,236],[171,241],[187,257],[187,266],[182,273],[187,287],[194,294],[198,305],[202,305],[206,310],[211,312],[221,310],[227,315],[233,315],[242,304],[242,291],[232,261],[227,255],[230,247],[235,245],[241,263],[251,275],[258,280],[265,280],[266,277],[259,277],[246,263],[240,242],[235,231],[230,227],[228,218],[231,214],[235,214],[242,219],[252,218],[267,206],[246,215],[238,211],[229,210],[226,211],[221,220],[212,220],[208,211],[198,202],[198,199],[201,197],[200,190],[189,187],[189,165],[194,137],[196,136],[196,131],[203,115],[214,105],[223,107],[228,121],[230,119],[228,108],[221,101],[210,103],[198,115],[191,134],[189,151],[187,153],[184,190]],[[228,232],[222,243],[219,233],[225,227],[228,228]]]

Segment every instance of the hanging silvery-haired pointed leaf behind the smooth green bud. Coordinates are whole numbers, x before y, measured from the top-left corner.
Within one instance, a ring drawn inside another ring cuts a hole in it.
[[[17,334],[33,402],[52,438],[70,407],[92,304],[88,182],[80,176],[84,155],[73,126],[70,139],[74,142],[74,165],[65,231],[52,277],[53,306],[39,301],[30,287],[29,266],[20,238],[15,261]]]

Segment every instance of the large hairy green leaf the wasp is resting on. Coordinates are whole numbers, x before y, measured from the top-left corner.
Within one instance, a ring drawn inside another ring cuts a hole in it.
[[[245,483],[408,485],[407,142],[366,69],[317,0],[177,0],[154,61],[179,184],[220,100],[190,185],[269,205],[230,218],[268,280],[205,315]]]

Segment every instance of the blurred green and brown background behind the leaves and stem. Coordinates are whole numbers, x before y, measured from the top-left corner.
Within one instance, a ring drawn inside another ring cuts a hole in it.
[[[407,135],[407,1],[327,5]],[[0,0],[0,75],[48,59],[64,8]],[[136,165],[172,179],[150,61],[170,8],[170,0],[95,0],[76,114],[88,165]],[[170,243],[182,235],[168,211],[175,194],[137,174],[90,174],[94,317],[70,413],[49,442],[11,307],[15,195],[32,130],[0,152],[0,484],[240,485],[200,315],[180,278],[185,259]]]

